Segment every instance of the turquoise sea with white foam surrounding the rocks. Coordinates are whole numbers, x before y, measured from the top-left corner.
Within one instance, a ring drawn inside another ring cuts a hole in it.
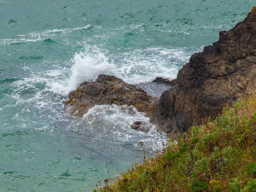
[[[140,159],[139,141],[160,150],[165,134],[133,107],[96,106],[77,119],[64,111],[67,94],[102,73],[144,87],[173,79],[254,5],[0,0],[0,191],[90,191]],[[151,131],[131,130],[135,120]]]

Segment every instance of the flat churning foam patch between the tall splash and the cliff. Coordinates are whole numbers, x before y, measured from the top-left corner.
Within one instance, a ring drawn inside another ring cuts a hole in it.
[[[189,60],[191,52],[185,49],[150,47],[123,53],[117,73],[131,84],[153,81],[156,77],[174,79],[181,64]]]

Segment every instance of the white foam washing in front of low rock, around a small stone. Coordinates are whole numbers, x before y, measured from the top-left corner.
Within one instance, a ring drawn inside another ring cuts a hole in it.
[[[133,130],[130,125],[134,121],[143,121],[150,130],[148,133]],[[150,144],[152,150],[159,150],[162,142],[166,141],[166,134],[157,130],[157,126],[149,122],[144,113],[138,112],[133,106],[96,105],[83,120],[73,123],[69,129],[84,137],[92,135],[95,141],[114,141],[117,143],[130,143],[137,146],[139,141]]]

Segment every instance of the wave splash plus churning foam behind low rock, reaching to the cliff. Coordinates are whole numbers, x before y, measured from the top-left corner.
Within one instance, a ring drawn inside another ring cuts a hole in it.
[[[100,74],[113,75],[130,84],[148,83],[156,77],[174,79],[179,67],[193,53],[184,48],[150,47],[113,56],[105,49],[88,44],[84,46],[84,52],[76,53],[70,60],[70,68],[62,70],[62,73],[69,74],[68,77],[58,79],[61,70],[48,73],[56,77],[56,81],[47,83],[52,91],[67,95],[81,82],[95,80]]]

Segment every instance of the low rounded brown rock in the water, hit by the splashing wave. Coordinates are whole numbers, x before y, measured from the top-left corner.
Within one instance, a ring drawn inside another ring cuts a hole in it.
[[[71,115],[83,116],[95,105],[133,105],[147,116],[154,114],[158,99],[140,87],[127,84],[114,76],[100,75],[96,81],[83,82],[69,94],[66,102]]]

